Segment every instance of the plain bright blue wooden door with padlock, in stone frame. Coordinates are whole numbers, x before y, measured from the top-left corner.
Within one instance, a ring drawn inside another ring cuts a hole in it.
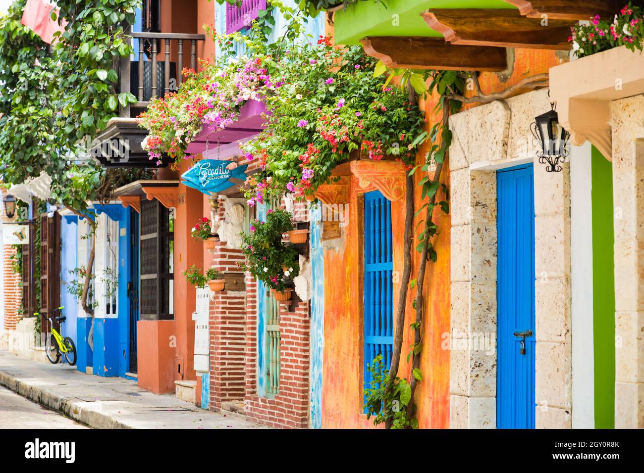
[[[497,172],[499,429],[535,428],[534,196],[532,164]]]

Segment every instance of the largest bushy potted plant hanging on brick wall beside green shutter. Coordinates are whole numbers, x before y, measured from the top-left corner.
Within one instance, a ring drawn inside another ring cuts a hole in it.
[[[240,267],[262,281],[278,301],[291,298],[289,281],[299,274],[297,250],[282,241],[282,235],[293,228],[290,218],[287,210],[269,210],[266,221],[255,219],[249,232],[242,232],[246,263]]]

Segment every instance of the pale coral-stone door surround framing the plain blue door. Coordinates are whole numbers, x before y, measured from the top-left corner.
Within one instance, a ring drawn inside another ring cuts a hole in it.
[[[547,90],[451,116],[450,427],[495,428],[497,357],[478,344],[497,329],[496,170],[531,162],[530,124]],[[536,427],[571,427],[568,165],[535,163]]]

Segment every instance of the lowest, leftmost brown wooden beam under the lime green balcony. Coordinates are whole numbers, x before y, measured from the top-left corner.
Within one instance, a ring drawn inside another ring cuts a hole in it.
[[[504,71],[505,48],[453,46],[426,36],[369,36],[360,40],[365,52],[389,68]]]

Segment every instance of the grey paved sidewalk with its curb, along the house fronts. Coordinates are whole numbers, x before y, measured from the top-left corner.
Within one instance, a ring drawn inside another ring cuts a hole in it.
[[[84,375],[0,351],[0,385],[95,429],[258,429],[242,416],[204,411],[124,378]],[[2,420],[0,419],[0,427]]]

